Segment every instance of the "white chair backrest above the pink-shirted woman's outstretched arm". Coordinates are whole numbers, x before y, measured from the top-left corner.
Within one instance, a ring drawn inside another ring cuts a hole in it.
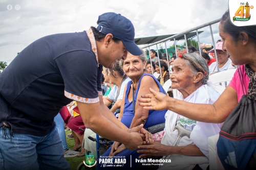
[[[226,71],[217,72],[216,74],[209,76],[209,81],[215,85],[219,84],[221,86],[227,87],[231,79],[233,78],[234,72],[236,69],[229,69]]]

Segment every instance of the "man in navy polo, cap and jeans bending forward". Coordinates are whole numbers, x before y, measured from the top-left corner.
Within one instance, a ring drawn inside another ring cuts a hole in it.
[[[86,127],[128,149],[142,144],[143,134],[128,130],[103,104],[101,89],[102,65],[113,68],[127,51],[141,55],[134,27],[115,13],[97,23],[34,41],[0,74],[0,169],[70,169],[54,117],[73,100]]]

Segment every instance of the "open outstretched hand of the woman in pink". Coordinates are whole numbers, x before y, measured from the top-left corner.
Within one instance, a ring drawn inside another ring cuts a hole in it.
[[[143,94],[139,99],[139,105],[147,110],[165,110],[168,109],[168,95],[155,91],[150,88],[152,94]]]

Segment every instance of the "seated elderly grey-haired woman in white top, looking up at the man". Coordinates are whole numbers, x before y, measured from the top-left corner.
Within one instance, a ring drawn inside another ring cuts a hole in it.
[[[207,63],[196,53],[180,54],[174,61],[172,69],[173,73],[170,75],[172,88],[181,92],[176,98],[178,100],[212,104],[224,90],[221,86],[207,84],[209,78]],[[190,137],[183,136],[179,143],[174,145],[178,135],[177,124],[191,131],[191,134]],[[221,126],[222,124],[197,122],[168,110],[165,114],[165,133],[161,142],[142,145],[139,147],[142,150],[138,153],[143,153],[140,156],[142,158],[167,156],[159,159],[172,160],[172,163],[163,163],[160,169],[193,169],[195,166],[206,169],[209,162],[208,137],[218,134]]]

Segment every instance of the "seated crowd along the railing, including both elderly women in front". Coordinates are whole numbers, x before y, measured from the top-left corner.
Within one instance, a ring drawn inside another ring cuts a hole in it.
[[[164,54],[164,57],[161,55],[158,58],[157,52],[151,50],[151,59],[147,59],[144,53],[140,56],[133,56],[129,53],[127,58],[116,63],[113,69],[104,69],[101,82],[104,94],[103,102],[113,113],[120,108],[120,113],[116,116],[126,127],[132,129],[143,124],[144,128],[148,128],[165,123],[165,129],[152,134],[154,141],[140,146],[140,150],[127,150],[122,143],[115,141],[108,150],[100,147],[100,155],[126,157],[132,155],[132,164],[137,166],[137,169],[145,167],[135,160],[146,157],[172,159],[172,164],[164,163],[161,167],[152,166],[151,169],[207,168],[209,165],[208,137],[218,134],[222,124],[198,122],[170,110],[145,110],[139,105],[139,98],[137,98],[142,94],[150,93],[150,88],[172,96],[171,92],[166,93],[162,88],[162,85],[170,79],[172,81],[171,88],[177,89],[181,93],[176,99],[190,103],[213,104],[224,89],[208,82],[209,75],[217,72],[216,60],[208,55],[208,53],[212,53],[212,50],[203,48],[202,56],[194,46],[188,46],[188,51],[189,53],[186,53],[186,47],[183,49],[177,47],[177,57],[174,55],[169,58],[168,54]],[[219,70],[233,69],[229,55],[222,51],[222,42],[216,44],[216,51]],[[185,74],[181,74],[181,71]],[[84,127],[79,113],[73,110],[76,107],[76,102],[72,102],[69,107],[72,117],[67,122],[67,127],[72,130],[70,135],[74,138],[75,145],[73,150],[70,150],[67,147],[66,139],[63,139],[63,134],[61,135],[59,131],[65,157],[76,155],[80,157],[89,152],[96,154],[96,142],[87,138],[87,136],[96,138],[96,134]],[[59,116],[56,116],[56,122],[60,122],[57,118]],[[182,137],[178,143],[175,143],[179,133],[176,128],[177,124],[181,126],[179,130],[188,130],[190,135]],[[82,145],[83,138],[84,145]],[[81,150],[79,150],[80,148]],[[95,158],[97,159],[97,156]],[[101,169],[100,166],[97,168]],[[123,168],[129,169],[130,164],[124,164]]]

